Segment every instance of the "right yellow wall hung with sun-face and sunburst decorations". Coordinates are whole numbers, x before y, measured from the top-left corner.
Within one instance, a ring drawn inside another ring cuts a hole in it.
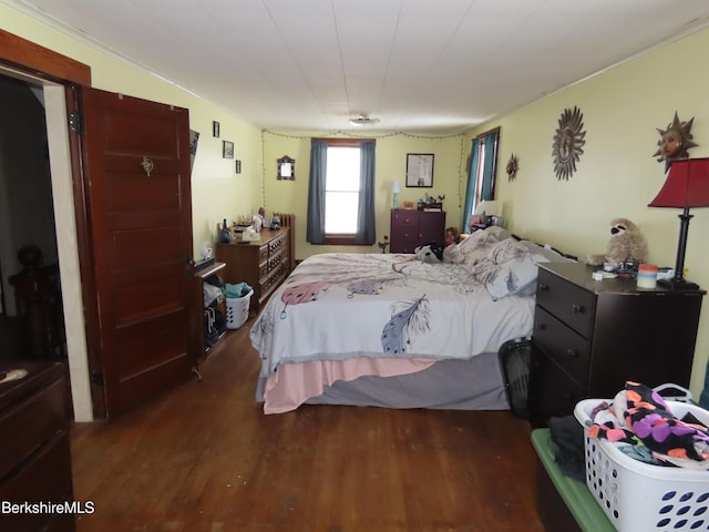
[[[502,127],[496,197],[508,227],[585,257],[605,252],[612,218],[627,217],[647,236],[649,260],[674,267],[679,211],[647,207],[665,182],[665,163],[653,154],[659,140],[657,129],[665,130],[677,111],[681,121],[695,119],[691,133],[699,145],[689,155],[709,156],[708,51],[709,30],[705,30],[466,135]],[[576,173],[568,181],[558,181],[552,139],[564,109],[575,105],[584,115],[586,144]],[[510,182],[504,166],[512,153],[520,168]],[[691,214],[685,265],[690,280],[709,288],[709,209],[697,208]],[[691,379],[697,397],[703,388],[708,355],[709,306],[705,300]]]

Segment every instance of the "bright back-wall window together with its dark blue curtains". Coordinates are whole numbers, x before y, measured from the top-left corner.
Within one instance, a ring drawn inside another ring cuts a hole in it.
[[[374,145],[361,139],[312,140],[309,243],[374,243]]]

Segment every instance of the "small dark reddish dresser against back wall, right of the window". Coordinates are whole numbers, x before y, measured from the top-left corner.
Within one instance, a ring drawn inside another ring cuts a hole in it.
[[[445,213],[391,211],[391,253],[413,253],[418,246],[445,241]]]

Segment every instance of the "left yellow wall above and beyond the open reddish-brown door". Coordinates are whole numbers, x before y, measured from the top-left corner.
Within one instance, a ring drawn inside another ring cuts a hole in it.
[[[260,195],[260,131],[245,122],[237,111],[218,108],[187,90],[102,53],[66,34],[0,4],[0,28],[91,66],[92,85],[130,96],[167,103],[189,110],[189,125],[199,132],[192,176],[194,249],[216,239],[216,224],[224,217],[250,208]],[[212,122],[220,123],[220,139],[212,136]],[[234,160],[222,157],[222,141],[234,142]]]

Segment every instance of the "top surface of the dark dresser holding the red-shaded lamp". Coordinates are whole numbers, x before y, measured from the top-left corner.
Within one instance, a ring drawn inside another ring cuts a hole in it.
[[[582,288],[595,294],[634,294],[634,295],[666,295],[666,296],[703,296],[706,290],[672,290],[657,285],[656,288],[638,288],[636,279],[616,277],[615,279],[595,280],[592,274],[597,267],[583,263],[541,263],[541,269],[546,269]]]

